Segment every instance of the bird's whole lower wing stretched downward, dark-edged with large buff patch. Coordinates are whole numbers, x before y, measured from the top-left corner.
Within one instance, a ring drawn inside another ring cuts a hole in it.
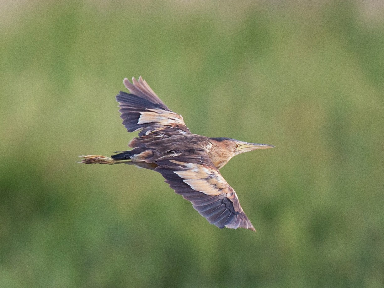
[[[225,181],[208,156],[177,156],[155,161],[165,182],[208,222],[219,228],[238,227],[255,231],[245,215],[235,190]]]

